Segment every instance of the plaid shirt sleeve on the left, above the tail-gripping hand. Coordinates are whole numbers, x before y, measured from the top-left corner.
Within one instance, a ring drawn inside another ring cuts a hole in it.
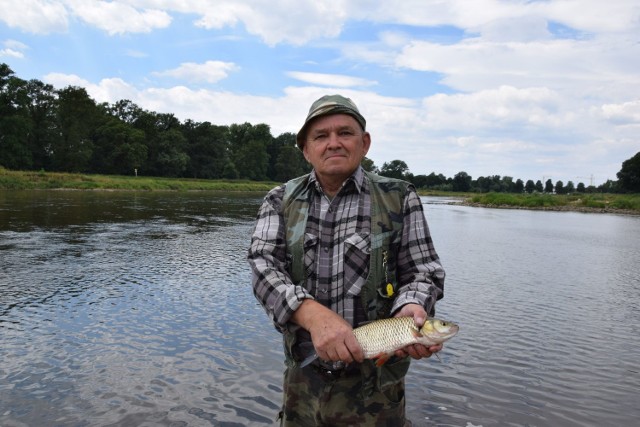
[[[265,197],[247,256],[253,293],[279,330],[285,328],[305,299],[313,298],[304,287],[293,283],[287,271],[290,260],[281,210],[283,195],[284,186],[280,186]]]

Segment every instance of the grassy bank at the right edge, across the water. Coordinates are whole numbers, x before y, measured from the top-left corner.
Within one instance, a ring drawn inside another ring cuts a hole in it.
[[[584,212],[640,214],[640,194],[506,194],[473,195],[466,203],[475,206]]]

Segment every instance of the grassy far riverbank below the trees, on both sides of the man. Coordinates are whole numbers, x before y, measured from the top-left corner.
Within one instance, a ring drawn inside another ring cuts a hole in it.
[[[224,191],[266,193],[277,182],[157,178],[44,171],[10,171],[0,168],[0,189],[5,190],[131,190]],[[640,215],[640,194],[507,194],[419,191],[422,196],[452,197],[475,207],[621,213]]]

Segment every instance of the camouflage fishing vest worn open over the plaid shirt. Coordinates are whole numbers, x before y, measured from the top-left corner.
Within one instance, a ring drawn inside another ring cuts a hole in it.
[[[304,175],[287,182],[282,203],[287,255],[291,260],[289,275],[293,283],[305,288],[307,276],[304,267],[304,235],[311,196],[307,185],[308,177],[309,175]],[[402,238],[403,201],[409,183],[366,171],[365,179],[369,181],[371,193],[369,275],[359,297],[365,316],[371,321],[389,317],[396,297],[396,255]],[[296,340],[295,328],[286,328],[283,335],[287,363],[295,364],[292,356]],[[409,367],[408,358],[392,364],[396,365],[395,368],[383,365],[381,369],[369,363],[370,361],[365,362],[363,365],[369,370],[379,371],[381,375],[377,375],[378,382],[384,377],[383,383],[388,380],[397,381],[406,374]],[[378,383],[378,386],[381,384]]]

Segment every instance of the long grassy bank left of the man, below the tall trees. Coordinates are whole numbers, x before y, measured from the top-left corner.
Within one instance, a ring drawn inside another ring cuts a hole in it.
[[[155,178],[144,176],[89,175],[0,168],[0,189],[11,190],[211,190],[266,192],[276,183],[240,180]]]

